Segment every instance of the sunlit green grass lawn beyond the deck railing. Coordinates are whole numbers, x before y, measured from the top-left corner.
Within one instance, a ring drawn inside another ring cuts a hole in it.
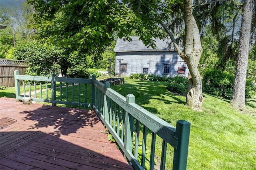
[[[180,119],[191,123],[188,170],[256,169],[256,98],[246,100],[246,112],[240,112],[228,100],[204,93],[203,111],[198,112],[185,105],[186,97],[171,94],[165,87],[166,82],[129,78],[125,78],[125,84],[111,86],[123,96],[134,94],[136,104],[174,126]],[[0,96],[14,93],[13,88],[0,90]],[[150,140],[148,137],[147,143]],[[157,139],[158,156],[161,147],[162,142]],[[172,169],[172,158],[173,149],[169,146],[167,169]]]

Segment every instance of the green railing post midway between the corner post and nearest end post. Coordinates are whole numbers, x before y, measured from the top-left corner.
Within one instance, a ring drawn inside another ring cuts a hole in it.
[[[135,102],[135,96],[133,94],[128,94],[126,96],[126,104]],[[132,132],[133,132],[133,120],[134,117],[126,112],[125,115],[125,136],[124,136],[124,148],[131,152],[132,154]]]

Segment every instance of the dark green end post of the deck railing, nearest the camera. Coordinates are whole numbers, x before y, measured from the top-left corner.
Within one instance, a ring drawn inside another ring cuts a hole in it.
[[[185,120],[177,121],[175,136],[178,138],[177,149],[174,149],[174,170],[186,170],[188,159],[188,142],[190,134],[190,123]]]

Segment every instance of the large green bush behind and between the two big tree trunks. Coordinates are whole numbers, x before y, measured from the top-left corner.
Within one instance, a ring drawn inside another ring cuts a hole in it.
[[[215,69],[206,70],[203,75],[203,90],[209,94],[231,99],[234,84],[234,74]],[[256,87],[251,80],[246,80],[245,97],[252,98]]]

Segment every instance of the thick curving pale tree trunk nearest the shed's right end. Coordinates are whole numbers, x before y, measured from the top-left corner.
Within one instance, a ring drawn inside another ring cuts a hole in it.
[[[198,63],[202,55],[200,32],[192,14],[192,1],[184,0],[184,23],[186,33],[186,44],[184,56],[189,69],[188,94],[186,104],[195,110],[202,110],[202,78],[198,71]]]

